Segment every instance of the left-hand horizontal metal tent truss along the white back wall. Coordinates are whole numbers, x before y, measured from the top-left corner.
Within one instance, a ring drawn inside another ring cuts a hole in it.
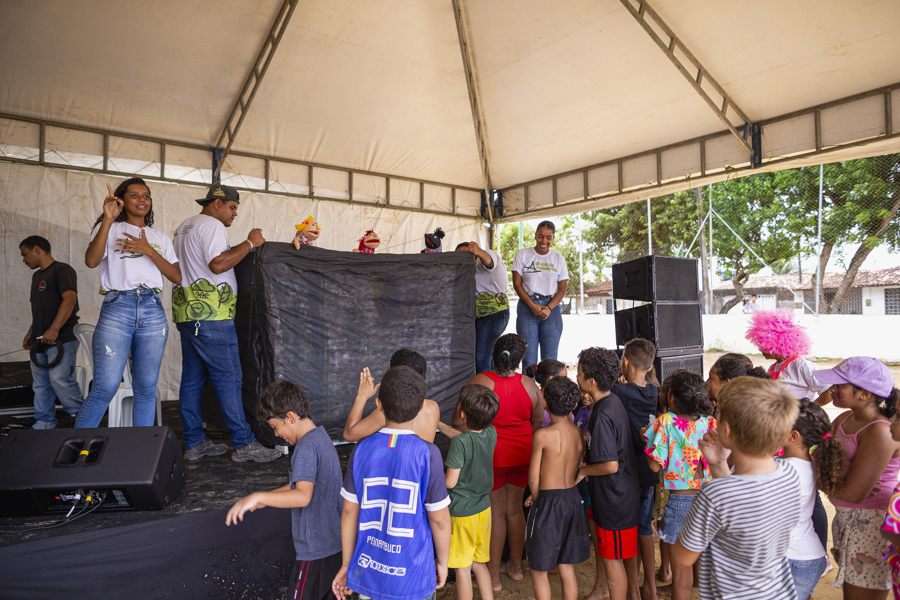
[[[210,146],[204,146],[202,144],[192,144],[189,142],[178,141],[175,139],[164,139],[164,138],[155,138],[152,136],[144,136],[135,133],[127,133],[122,131],[114,131],[114,130],[104,130],[96,127],[87,127],[84,125],[76,125],[74,123],[66,123],[62,121],[48,121],[46,119],[35,119],[31,117],[23,117],[15,114],[8,114],[5,112],[0,112],[0,119],[8,119],[10,121],[21,121],[26,123],[35,123],[40,126],[40,139],[38,142],[38,159],[28,159],[28,158],[14,158],[14,157],[2,157],[0,156],[0,162],[7,163],[19,163],[23,165],[37,165],[37,166],[50,166],[55,168],[62,168],[67,170],[74,171],[86,171],[89,173],[96,173],[98,175],[117,175],[121,177],[133,177],[140,176],[150,181],[164,181],[173,184],[186,184],[186,185],[206,185],[202,182],[193,182],[187,181],[184,179],[175,179],[173,177],[166,177],[166,146],[175,146],[178,148],[190,148],[193,150],[202,150],[204,152],[215,152],[217,148],[211,148]],[[76,131],[85,131],[87,133],[95,133],[103,136],[103,167],[100,169],[90,167],[90,166],[73,166],[66,165],[62,163],[53,163],[49,162],[45,159],[47,154],[47,128],[48,127],[57,127],[60,129],[66,130],[76,130]],[[124,139],[137,139],[139,141],[150,142],[159,145],[159,175],[139,175],[137,173],[125,173],[121,171],[113,171],[109,168],[109,139],[110,136],[116,138],[124,138]],[[322,201],[336,201],[336,202],[344,202],[347,204],[359,204],[361,206],[371,206],[374,208],[390,208],[392,210],[409,210],[413,212],[424,212],[428,214],[437,214],[437,215],[452,215],[459,219],[473,219],[473,220],[482,220],[481,217],[475,215],[464,215],[457,214],[456,212],[456,190],[464,190],[466,192],[474,192],[481,193],[482,190],[474,187],[466,187],[464,185],[453,185],[453,184],[442,184],[439,182],[429,181],[426,179],[417,179],[415,177],[404,177],[401,175],[390,175],[387,173],[377,173],[374,171],[365,171],[364,169],[354,169],[347,168],[346,166],[334,166],[334,165],[323,165],[321,163],[313,163],[305,160],[295,160],[293,158],[284,158],[284,157],[275,157],[275,156],[266,156],[261,154],[255,154],[253,152],[242,152],[238,150],[231,150],[229,152],[230,155],[234,155],[236,157],[247,157],[247,158],[256,158],[258,160],[265,161],[266,167],[266,185],[264,188],[253,188],[253,187],[238,187],[235,186],[236,189],[246,192],[253,193],[270,193],[277,196],[287,196],[290,198],[303,198],[308,200],[322,200]],[[275,192],[269,190],[269,163],[270,161],[275,161],[279,163],[288,163],[291,165],[302,165],[307,166],[308,171],[308,184],[310,193],[288,193],[288,192]],[[195,168],[202,168],[198,166],[194,166]],[[347,173],[347,190],[349,199],[347,198],[330,198],[328,196],[321,196],[315,194],[315,188],[313,187],[313,168],[323,168],[329,169],[332,171],[343,171]],[[367,202],[367,201],[354,201],[353,199],[353,175],[370,175],[373,177],[380,177],[385,180],[385,201],[381,202]],[[391,180],[397,179],[400,181],[408,181],[412,183],[419,184],[419,207],[410,207],[403,206],[401,204],[392,204],[391,203]],[[437,185],[438,187],[446,187],[451,191],[452,197],[452,211],[446,212],[443,210],[428,210],[425,208],[425,185]]]

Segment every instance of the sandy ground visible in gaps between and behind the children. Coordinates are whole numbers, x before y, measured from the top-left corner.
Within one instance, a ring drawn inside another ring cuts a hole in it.
[[[707,352],[703,354],[703,366],[707,370],[709,367],[716,363],[716,359],[725,354],[724,352]],[[762,354],[751,354],[749,356],[753,361],[753,364],[756,366],[761,366],[763,368],[768,369],[772,361],[769,361],[762,357]],[[821,361],[816,363],[816,366],[820,369],[828,369],[835,366],[837,363],[840,363],[839,360],[834,361]],[[900,386],[900,367],[888,367],[892,372],[894,372],[894,381],[896,381],[897,385]],[[572,374],[572,370],[570,370],[570,374]],[[839,408],[834,408],[829,405],[825,407],[825,410],[828,412],[829,416],[834,418],[842,413],[842,410]],[[834,506],[828,501],[828,498],[822,497],[822,501],[825,506],[825,511],[828,513],[828,521],[829,524],[834,516]],[[828,544],[831,547],[832,543],[832,534],[831,531],[828,533]],[[660,553],[659,546],[657,546],[656,551],[656,571],[659,570],[660,566]],[[531,571],[528,569],[527,560],[522,561],[522,571],[525,574],[525,578],[521,581],[513,581],[506,574],[500,573],[500,583],[503,586],[503,590],[500,592],[495,592],[495,598],[511,598],[515,600],[533,600],[535,597],[535,592],[531,587]],[[578,577],[578,597],[579,600],[583,600],[583,598],[587,597],[590,594],[590,590],[594,587],[594,578],[597,571],[597,563],[595,562],[594,552],[591,551],[591,558],[587,562],[581,563],[581,565],[577,565],[575,567],[575,574]],[[842,591],[840,589],[832,587],[832,583],[834,581],[834,575],[837,572],[837,569],[832,569],[828,573],[826,573],[820,580],[819,585],[815,587],[815,593],[813,594],[813,598],[815,600],[839,600],[842,598]],[[554,598],[563,597],[563,588],[560,585],[560,578],[558,575],[550,575],[550,588],[551,595]],[[643,578],[643,575],[642,575]],[[474,581],[473,581],[474,584]],[[659,579],[656,580],[657,586],[662,586],[662,581]],[[480,599],[482,596],[479,595],[477,587],[475,588],[475,598]],[[694,588],[693,592],[690,596],[692,599],[699,598],[699,592],[697,588]],[[456,587],[454,584],[448,584],[443,589],[437,590],[437,600],[455,600],[456,598]]]

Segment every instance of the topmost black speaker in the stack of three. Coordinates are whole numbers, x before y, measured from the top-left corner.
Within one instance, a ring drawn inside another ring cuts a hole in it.
[[[696,258],[642,256],[613,265],[613,298],[641,302],[697,302]]]

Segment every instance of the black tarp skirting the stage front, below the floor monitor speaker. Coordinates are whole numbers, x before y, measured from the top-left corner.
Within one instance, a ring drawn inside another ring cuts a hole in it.
[[[0,598],[287,597],[286,579],[294,559],[291,512],[266,508],[226,527],[227,512],[175,516],[0,548]]]

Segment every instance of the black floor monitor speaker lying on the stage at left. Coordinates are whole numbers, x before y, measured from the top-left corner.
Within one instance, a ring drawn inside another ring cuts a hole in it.
[[[0,516],[64,515],[78,492],[103,497],[94,511],[161,510],[183,489],[165,426],[26,429],[0,446]]]

